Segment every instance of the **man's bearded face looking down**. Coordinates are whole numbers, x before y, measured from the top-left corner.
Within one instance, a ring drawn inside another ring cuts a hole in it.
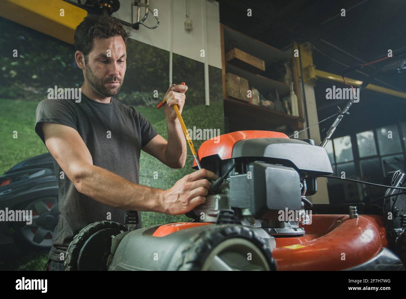
[[[84,75],[93,91],[105,97],[115,96],[120,91],[127,68],[123,38],[94,38],[93,48],[86,59]]]

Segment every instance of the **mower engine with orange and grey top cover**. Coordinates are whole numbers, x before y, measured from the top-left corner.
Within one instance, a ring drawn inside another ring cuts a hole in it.
[[[261,227],[272,236],[304,235],[299,223],[311,221],[306,196],[317,192],[318,175],[333,173],[326,150],[313,140],[270,131],[221,135],[218,143],[205,141],[198,155],[202,168],[219,177],[229,174],[186,216]]]

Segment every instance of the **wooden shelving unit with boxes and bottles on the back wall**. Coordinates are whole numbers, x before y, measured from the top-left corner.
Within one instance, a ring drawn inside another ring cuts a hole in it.
[[[299,117],[290,116],[283,112],[266,109],[261,106],[252,105],[242,100],[230,98],[226,94],[225,74],[230,72],[248,80],[251,87],[255,87],[262,95],[276,89],[279,99],[290,94],[289,85],[269,79],[265,76],[250,72],[243,68],[225,61],[225,53],[233,48],[230,41],[236,41],[236,47],[250,55],[265,61],[266,64],[275,59],[290,59],[292,61],[292,72],[294,75],[294,91],[298,97]],[[300,92],[298,89],[298,79],[296,75],[296,64],[291,53],[283,52],[261,41],[253,39],[248,35],[238,32],[228,26],[220,24],[221,41],[221,62],[222,62],[222,83],[224,97],[224,116],[227,119],[226,133],[242,130],[265,130],[280,131],[282,133],[292,133],[304,128]]]

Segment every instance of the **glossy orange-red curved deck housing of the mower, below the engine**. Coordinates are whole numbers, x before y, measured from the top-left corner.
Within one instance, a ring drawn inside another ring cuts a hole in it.
[[[312,224],[304,228],[304,237],[275,238],[272,255],[278,270],[343,270],[366,262],[388,246],[380,216],[313,215]]]

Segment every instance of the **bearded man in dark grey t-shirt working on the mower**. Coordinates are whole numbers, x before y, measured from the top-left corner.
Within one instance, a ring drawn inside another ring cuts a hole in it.
[[[138,111],[113,97],[123,84],[129,36],[114,18],[85,17],[75,30],[75,59],[84,76],[80,102],[45,99],[37,107],[35,131],[54,158],[59,188],[60,220],[48,270],[65,269],[69,243],[86,225],[122,223],[125,210],[184,214],[205,202],[205,177],[217,178],[202,169],[168,190],[138,184],[141,149],[171,168],[184,167],[186,141],[172,106],[182,111],[188,87],[173,84],[164,96],[166,141]]]

